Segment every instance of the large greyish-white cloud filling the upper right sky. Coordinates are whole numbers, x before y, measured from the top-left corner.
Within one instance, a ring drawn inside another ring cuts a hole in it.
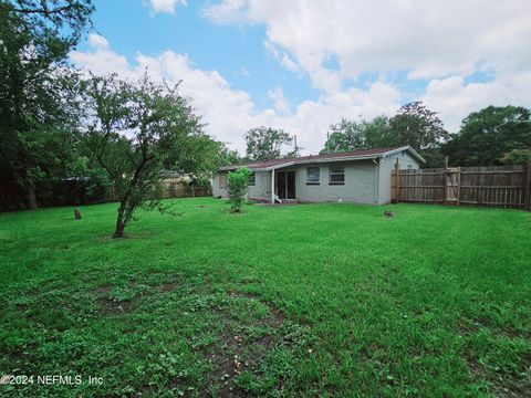
[[[302,103],[298,113],[312,108],[324,119],[321,108],[336,113],[332,103],[342,108],[350,102],[365,114],[387,108],[374,101],[376,88],[352,96],[346,83],[360,83],[363,73],[405,74],[409,82],[403,84],[404,94],[409,84],[418,87],[415,81],[427,81],[416,100],[440,112],[450,130],[490,104],[531,106],[529,0],[225,0],[204,14],[216,23],[264,25],[268,52],[285,69],[308,74],[323,93],[316,103]],[[337,70],[326,66],[331,57]],[[467,83],[485,71],[490,82]],[[378,77],[372,83],[388,85],[383,82]],[[360,98],[372,105],[361,105]]]

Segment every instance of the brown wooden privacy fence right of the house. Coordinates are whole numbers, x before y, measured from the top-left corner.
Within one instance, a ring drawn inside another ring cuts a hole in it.
[[[393,202],[489,206],[530,210],[531,167],[395,169]]]

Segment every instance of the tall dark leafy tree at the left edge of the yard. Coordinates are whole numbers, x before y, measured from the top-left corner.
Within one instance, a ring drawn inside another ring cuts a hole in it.
[[[66,56],[90,24],[91,0],[0,0],[0,168],[37,208],[37,189],[75,164]]]

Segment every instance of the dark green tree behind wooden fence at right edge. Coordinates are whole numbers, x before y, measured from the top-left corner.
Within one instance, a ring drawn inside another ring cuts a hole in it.
[[[530,148],[530,111],[521,106],[488,106],[468,115],[459,133],[441,150],[455,165],[496,166],[518,161],[516,155]],[[522,161],[523,158],[520,156]]]

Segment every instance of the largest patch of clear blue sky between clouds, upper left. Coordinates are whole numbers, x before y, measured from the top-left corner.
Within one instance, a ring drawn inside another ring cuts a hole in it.
[[[263,25],[215,24],[201,18],[205,4],[190,1],[176,6],[173,14],[154,14],[143,0],[98,0],[93,20],[96,31],[131,62],[137,52],[186,53],[196,67],[217,70],[235,88],[247,91],[258,108],[273,106],[268,91],[280,84],[295,103],[319,97],[306,76],[287,71],[268,53]],[[80,50],[87,48],[86,42],[80,45]]]

